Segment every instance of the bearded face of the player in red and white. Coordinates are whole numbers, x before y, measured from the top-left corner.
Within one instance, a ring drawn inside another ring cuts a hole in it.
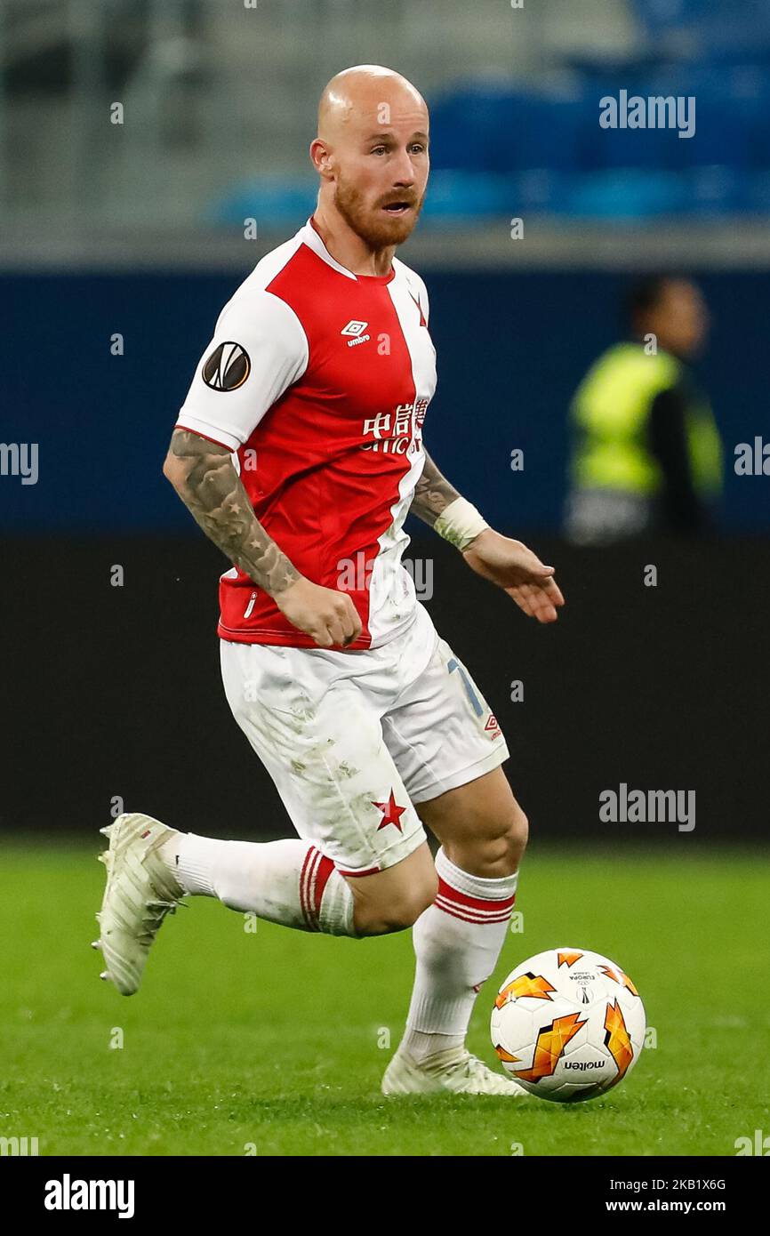
[[[345,221],[372,248],[402,245],[428,183],[425,108],[409,99],[367,109],[351,117],[335,156],[335,205]]]

